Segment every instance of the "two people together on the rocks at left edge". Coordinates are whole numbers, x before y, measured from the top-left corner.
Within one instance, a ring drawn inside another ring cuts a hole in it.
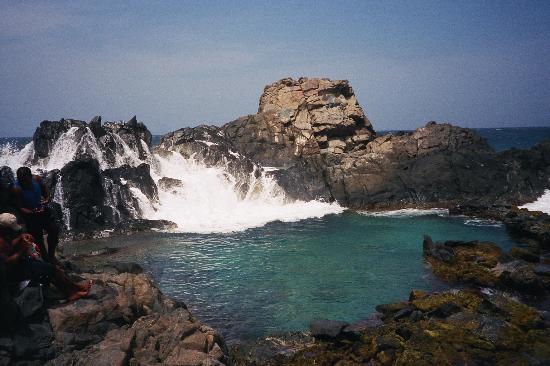
[[[17,169],[16,176],[10,196],[14,213],[24,225],[14,213],[0,213],[0,281],[12,285],[53,283],[69,301],[86,296],[91,282],[71,281],[56,258],[59,226],[48,209],[51,197],[40,176],[28,167]]]

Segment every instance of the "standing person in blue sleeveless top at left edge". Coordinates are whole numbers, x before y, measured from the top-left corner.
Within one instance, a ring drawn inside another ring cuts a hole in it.
[[[38,175],[32,175],[28,167],[17,169],[17,181],[12,191],[15,203],[27,231],[40,247],[44,260],[55,262],[55,250],[59,243],[59,227],[47,208],[50,195]],[[48,233],[48,250],[44,244],[44,230]]]

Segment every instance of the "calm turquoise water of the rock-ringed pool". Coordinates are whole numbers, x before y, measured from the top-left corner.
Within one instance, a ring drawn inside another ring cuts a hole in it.
[[[230,234],[98,239],[65,252],[122,247],[110,259],[140,263],[166,295],[236,342],[305,330],[315,318],[360,320],[411,289],[441,288],[422,260],[424,234],[514,245],[498,223],[441,211],[346,211]]]

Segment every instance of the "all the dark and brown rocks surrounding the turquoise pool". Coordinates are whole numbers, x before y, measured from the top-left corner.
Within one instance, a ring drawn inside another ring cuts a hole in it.
[[[63,160],[64,144],[72,144],[70,162]],[[40,169],[54,196],[50,208],[73,240],[173,229],[173,222],[147,219],[144,202],[157,204],[159,192],[182,186],[170,177],[153,179],[156,157],[180,154],[223,168],[241,198],[261,189],[258,179],[267,176],[289,200],[336,201],[352,209],[445,207],[502,221],[522,244],[503,253],[493,243],[426,237],[426,262],[456,288],[413,290],[406,301],[380,305],[371,319],[321,320],[311,335],[263,340],[231,355],[215,330],[162,295],[139,265],[86,268],[74,258],[65,266],[75,278],[95,281],[91,295],[62,304],[51,289],[25,290],[16,302],[27,320],[0,336],[0,364],[550,362],[544,303],[550,217],[516,208],[548,188],[550,141],[496,153],[473,131],[435,122],[378,136],[347,81],[286,78],[265,88],[256,114],[221,127],[183,128],[156,147],[135,117],[125,123],[94,117],[42,122],[29,151],[18,163]],[[2,167],[0,204],[8,212],[11,181],[12,169]]]

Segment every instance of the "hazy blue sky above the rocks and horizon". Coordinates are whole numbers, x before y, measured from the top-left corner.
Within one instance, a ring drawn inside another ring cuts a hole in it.
[[[287,76],[348,79],[377,130],[550,126],[550,1],[0,0],[0,16],[0,136],[96,114],[221,125]]]

